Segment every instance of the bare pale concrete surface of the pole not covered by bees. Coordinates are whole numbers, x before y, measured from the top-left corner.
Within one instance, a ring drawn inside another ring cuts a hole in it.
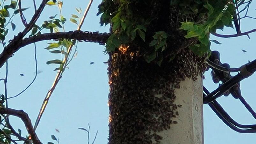
[[[162,136],[161,143],[203,144],[202,78],[198,76],[196,81],[191,78],[181,81],[180,88],[175,89],[175,95],[174,104],[182,105],[177,109],[179,116],[171,118],[177,124],[171,124],[170,129],[156,133]]]

